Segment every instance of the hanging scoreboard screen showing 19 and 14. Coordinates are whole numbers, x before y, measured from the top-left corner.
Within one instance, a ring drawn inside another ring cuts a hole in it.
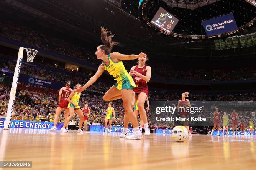
[[[172,14],[168,13],[164,8],[160,7],[151,20],[151,23],[154,24],[157,28],[170,34],[178,21],[179,20]]]

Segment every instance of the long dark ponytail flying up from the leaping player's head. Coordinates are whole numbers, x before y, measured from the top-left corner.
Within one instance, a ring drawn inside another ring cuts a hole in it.
[[[103,45],[100,45],[100,49],[105,51],[105,54],[109,54],[114,47],[114,45],[119,45],[118,42],[112,41],[114,35],[110,31],[107,31],[104,27],[100,28],[101,40]],[[108,35],[109,34],[109,35]]]

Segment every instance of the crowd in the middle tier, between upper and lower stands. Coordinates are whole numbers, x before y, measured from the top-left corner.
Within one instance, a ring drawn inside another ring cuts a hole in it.
[[[15,60],[10,60],[6,57],[0,58],[0,68],[5,68],[6,70],[14,71],[15,69]],[[90,76],[86,74],[82,74],[79,72],[72,72],[69,70],[60,70],[54,67],[47,67],[45,65],[35,65],[31,67],[30,63],[23,62],[24,64],[21,66],[21,74],[29,75],[31,77],[40,78],[43,80],[51,80],[51,81],[61,81],[65,82],[70,80],[73,85],[80,83],[86,83]],[[102,81],[97,81],[95,84],[90,86],[87,90],[91,90],[92,92],[97,92],[98,94],[104,94],[112,84],[105,83]],[[151,100],[177,100],[180,98],[180,94],[173,92],[154,92],[152,91],[150,96]],[[242,94],[191,94],[190,99],[193,101],[196,100],[256,100],[256,95],[254,93],[244,93]]]

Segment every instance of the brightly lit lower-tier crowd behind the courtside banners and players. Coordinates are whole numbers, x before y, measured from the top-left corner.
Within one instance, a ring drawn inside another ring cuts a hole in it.
[[[10,96],[10,88],[7,87],[4,83],[0,83],[0,116],[5,116],[7,114],[7,107],[8,107],[8,100]],[[172,94],[171,96],[177,97],[172,98],[172,100],[177,101],[179,99],[178,94]],[[195,98],[191,94],[191,98]],[[201,95],[196,95],[202,96]],[[217,95],[220,97],[219,100],[225,99],[229,97],[230,95],[223,95],[225,97],[222,97],[221,95]],[[250,99],[251,95],[249,94],[243,94],[243,99]],[[245,98],[247,96],[247,98]],[[198,100],[200,97],[198,98]],[[231,99],[231,98],[230,98]],[[154,100],[154,97],[151,97],[151,101]],[[192,99],[191,99],[192,100]],[[194,101],[194,100],[193,100]],[[40,88],[40,87],[34,87],[31,84],[25,84],[25,83],[18,83],[17,93],[15,97],[15,106],[13,111],[13,117],[14,120],[31,120],[31,121],[48,121],[53,122],[54,121],[54,114],[55,109],[58,105],[58,92],[56,90],[50,90],[48,88]],[[100,96],[92,96],[87,94],[82,94],[81,99],[79,101],[79,106],[82,108],[84,107],[85,103],[89,105],[89,108],[91,110],[91,114],[88,117],[88,122],[90,124],[100,124],[104,125],[106,110],[108,108],[108,102],[105,102],[102,100],[102,97]],[[113,125],[123,126],[123,105],[121,100],[113,101],[113,108],[115,109],[115,120],[113,120]],[[207,112],[207,111],[205,111]],[[238,115],[240,115],[240,121],[244,122],[246,124],[248,122],[248,115],[251,114],[250,111],[245,110],[237,110]],[[201,115],[202,117],[207,117],[207,120],[212,120],[212,113],[208,112],[208,114]],[[229,114],[229,113],[228,113]],[[150,128],[172,128],[173,125],[166,125],[160,122],[152,122],[150,112],[147,114],[148,117],[148,124],[150,125]],[[231,118],[231,117],[230,117]],[[76,122],[79,122],[79,118],[75,115],[75,117],[72,120],[76,120]],[[72,121],[71,120],[71,121]],[[138,119],[139,121],[139,119]],[[64,113],[62,112],[59,116],[59,122],[64,122]]]

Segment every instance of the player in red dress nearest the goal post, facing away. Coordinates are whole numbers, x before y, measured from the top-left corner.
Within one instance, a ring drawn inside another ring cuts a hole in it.
[[[66,82],[66,87],[62,87],[59,90],[59,105],[56,109],[56,113],[54,115],[54,126],[49,130],[57,130],[57,122],[59,119],[59,115],[64,109],[64,118],[67,120],[67,117],[69,115],[69,110],[67,108],[67,105],[69,102],[67,101],[67,98],[69,97],[70,93],[73,91],[71,88],[69,88],[71,85],[70,81]],[[66,128],[66,127],[65,127]]]

